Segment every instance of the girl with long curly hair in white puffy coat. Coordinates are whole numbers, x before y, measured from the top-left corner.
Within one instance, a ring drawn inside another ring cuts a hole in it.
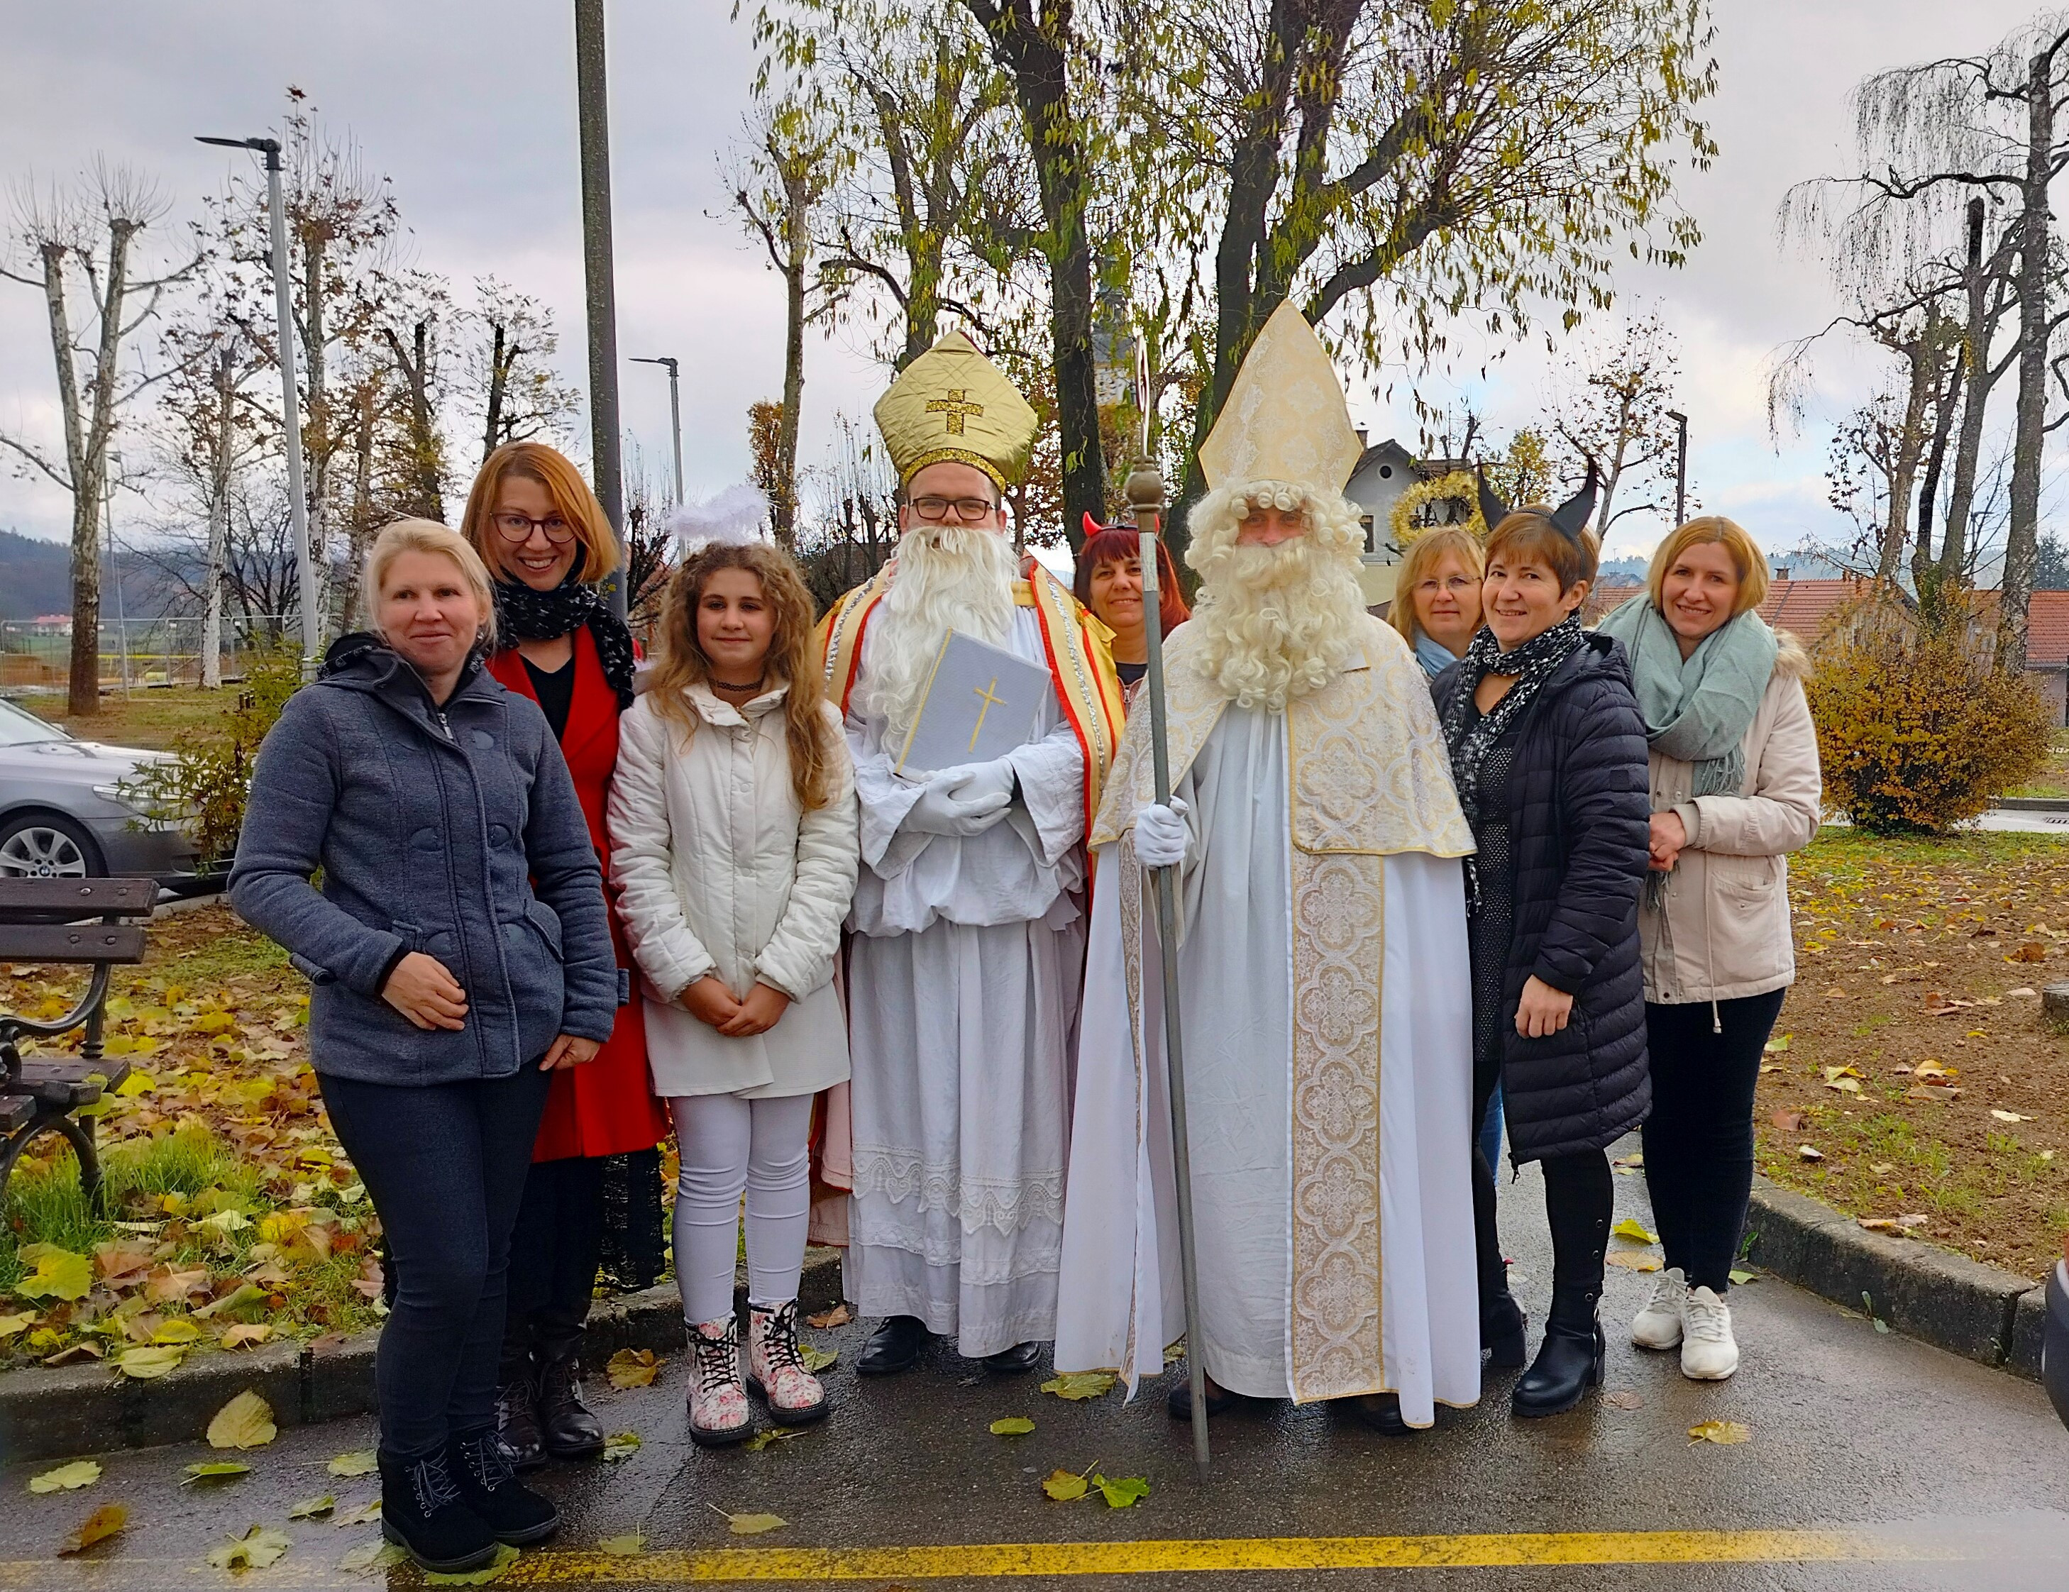
[[[811,1102],[848,1077],[834,990],[859,856],[854,769],[811,655],[813,606],[778,548],[712,542],[662,606],[658,662],[621,722],[610,870],[646,982],[648,1067],[683,1170],[674,1272],[689,1433],[826,1414],[801,1358]],[[749,1342],[732,1276],[747,1195]]]

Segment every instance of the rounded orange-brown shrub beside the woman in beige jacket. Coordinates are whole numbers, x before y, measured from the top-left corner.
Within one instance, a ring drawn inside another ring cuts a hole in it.
[[[2052,728],[2019,674],[1959,635],[1877,629],[1819,649],[1808,684],[1825,800],[1879,835],[1941,833],[2046,763]]]

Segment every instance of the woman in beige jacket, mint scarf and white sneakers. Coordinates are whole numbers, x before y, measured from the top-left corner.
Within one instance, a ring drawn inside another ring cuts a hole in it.
[[[1752,1189],[1752,1092],[1796,980],[1788,854],[1823,786],[1808,660],[1755,612],[1767,562],[1721,515],[1653,554],[1647,591],[1601,629],[1630,653],[1651,742],[1651,879],[1639,908],[1653,1110],[1645,1181],[1666,1269],[1630,1325],[1682,1375],[1738,1369],[1732,1284]]]

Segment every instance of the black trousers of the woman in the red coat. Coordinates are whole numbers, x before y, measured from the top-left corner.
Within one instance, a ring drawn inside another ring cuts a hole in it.
[[[604,1158],[532,1162],[511,1230],[503,1381],[559,1365],[581,1344],[604,1247]]]

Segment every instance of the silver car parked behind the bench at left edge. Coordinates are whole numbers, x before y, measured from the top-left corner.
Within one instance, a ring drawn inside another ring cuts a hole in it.
[[[0,699],[0,879],[194,881],[194,841],[130,782],[170,753],[103,746]]]

